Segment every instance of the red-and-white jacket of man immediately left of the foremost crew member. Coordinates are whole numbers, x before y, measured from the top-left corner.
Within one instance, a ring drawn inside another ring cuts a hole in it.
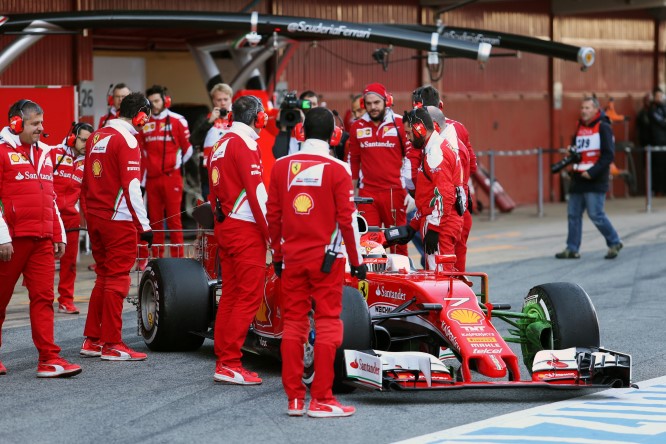
[[[213,146],[208,161],[211,207],[233,219],[254,222],[268,240],[266,187],[261,179],[261,152],[252,128],[233,122]]]

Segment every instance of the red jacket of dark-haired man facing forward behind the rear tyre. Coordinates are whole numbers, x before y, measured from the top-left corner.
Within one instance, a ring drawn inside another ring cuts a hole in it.
[[[168,109],[150,117],[140,142],[149,179],[178,170],[192,156],[187,120]]]

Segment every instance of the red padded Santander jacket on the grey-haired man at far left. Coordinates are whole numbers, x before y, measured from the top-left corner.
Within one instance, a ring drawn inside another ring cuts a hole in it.
[[[53,189],[51,147],[22,145],[5,127],[0,132],[0,244],[14,237],[66,243]]]

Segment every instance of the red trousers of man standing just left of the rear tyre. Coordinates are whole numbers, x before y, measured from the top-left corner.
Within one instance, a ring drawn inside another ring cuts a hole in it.
[[[97,279],[83,335],[115,344],[122,342],[123,302],[130,289],[137,230],[130,221],[112,221],[91,214],[88,235],[97,264]]]

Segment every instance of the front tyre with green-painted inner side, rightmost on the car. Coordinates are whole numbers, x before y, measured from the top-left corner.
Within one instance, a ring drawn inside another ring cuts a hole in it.
[[[599,320],[588,294],[578,284],[553,282],[532,288],[522,312],[536,316],[532,340],[522,345],[528,370],[540,350],[599,347]],[[544,323],[545,321],[545,323]],[[548,327],[549,324],[549,327]],[[530,326],[527,327],[528,339]]]

